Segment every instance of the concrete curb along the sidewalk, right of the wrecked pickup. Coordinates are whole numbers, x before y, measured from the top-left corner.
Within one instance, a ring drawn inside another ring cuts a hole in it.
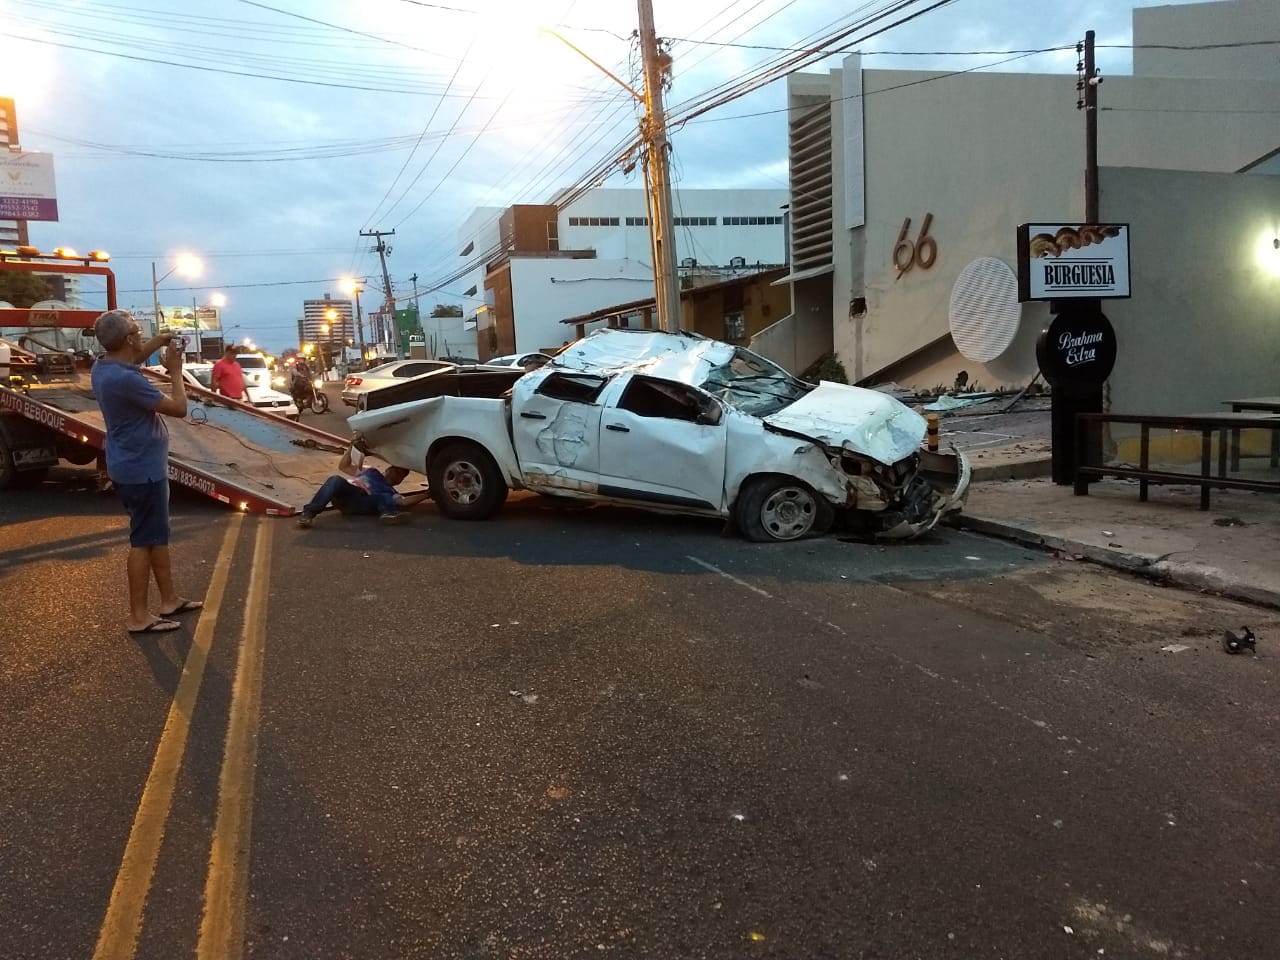
[[[1184,590],[1208,591],[1233,600],[1243,600],[1260,607],[1280,609],[1280,591],[1253,584],[1242,584],[1239,580],[1229,579],[1217,567],[1210,567],[1203,563],[1174,562],[1152,554],[1125,553],[1107,547],[1071,540],[1065,536],[1028,530],[1027,527],[1001,520],[969,516],[963,512],[951,520],[951,525],[961,530],[972,530],[975,534],[996,536],[1001,540],[1011,540],[1027,547],[1079,554],[1084,559],[1100,566],[1120,570],[1126,573],[1137,573],[1148,580],[1178,586]]]

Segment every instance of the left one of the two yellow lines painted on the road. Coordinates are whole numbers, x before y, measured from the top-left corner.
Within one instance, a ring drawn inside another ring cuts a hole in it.
[[[218,550],[218,563],[205,594],[205,607],[196,623],[196,635],[182,666],[182,677],[164,731],[156,746],[151,773],[142,787],[138,810],[133,817],[133,828],[124,845],[124,858],[115,874],[111,899],[106,905],[106,916],[97,934],[93,960],[132,960],[138,947],[138,933],[142,928],[142,910],[151,890],[151,877],[155,873],[156,858],[164,840],[165,823],[169,819],[169,806],[173,803],[174,783],[182,767],[182,755],[187,749],[187,733],[191,731],[191,716],[200,694],[200,682],[209,662],[209,648],[214,641],[214,628],[218,626],[218,611],[227,590],[227,577],[230,572],[232,556],[236,553],[236,540],[239,536],[244,515],[236,513],[227,525],[223,545]]]

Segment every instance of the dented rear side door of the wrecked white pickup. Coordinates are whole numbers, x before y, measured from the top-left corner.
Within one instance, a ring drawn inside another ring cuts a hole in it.
[[[600,404],[608,383],[595,374],[553,370],[516,381],[511,431],[532,490],[595,493],[600,468]]]

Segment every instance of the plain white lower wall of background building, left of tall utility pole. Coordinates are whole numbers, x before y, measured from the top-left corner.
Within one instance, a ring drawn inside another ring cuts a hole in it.
[[[653,297],[653,271],[632,260],[513,257],[516,342],[511,352],[558,348],[575,338],[568,316]]]

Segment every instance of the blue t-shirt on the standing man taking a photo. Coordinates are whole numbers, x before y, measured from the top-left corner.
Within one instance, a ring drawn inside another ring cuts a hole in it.
[[[104,357],[90,372],[106,422],[106,474],[118,484],[164,480],[169,428],[155,412],[164,394],[133,364]]]

